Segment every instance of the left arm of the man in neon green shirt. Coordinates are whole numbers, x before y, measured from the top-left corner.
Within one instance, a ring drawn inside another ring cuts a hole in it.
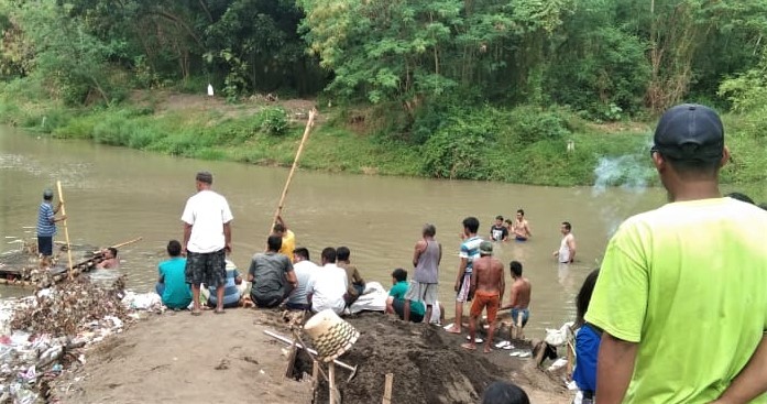
[[[639,345],[602,332],[596,357],[596,397],[600,404],[620,404],[626,395],[634,372],[634,360]]]

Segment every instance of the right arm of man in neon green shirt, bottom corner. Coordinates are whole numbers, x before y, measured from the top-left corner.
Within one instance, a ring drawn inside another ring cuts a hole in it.
[[[767,335],[765,334],[761,335],[761,341],[746,367],[741,370],[722,396],[711,404],[748,403],[764,392],[767,392]]]

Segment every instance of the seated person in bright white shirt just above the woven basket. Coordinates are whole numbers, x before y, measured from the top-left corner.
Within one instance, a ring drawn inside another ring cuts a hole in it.
[[[347,272],[336,265],[336,249],[328,247],[322,250],[322,267],[320,267],[306,285],[307,299],[311,312],[318,313],[330,308],[336,314],[343,313],[347,306],[343,294],[347,293],[349,281]]]

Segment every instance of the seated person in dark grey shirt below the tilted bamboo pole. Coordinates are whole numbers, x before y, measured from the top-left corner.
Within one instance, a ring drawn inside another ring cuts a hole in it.
[[[291,260],[278,252],[282,243],[282,237],[270,236],[266,252],[258,253],[251,260],[248,282],[252,282],[250,295],[256,307],[280,306],[298,283]]]

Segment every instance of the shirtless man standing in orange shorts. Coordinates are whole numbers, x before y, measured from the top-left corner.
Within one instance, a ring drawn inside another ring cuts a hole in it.
[[[490,345],[493,343],[493,335],[495,334],[495,316],[498,313],[501,301],[503,301],[503,291],[505,288],[506,281],[503,276],[503,264],[493,258],[493,243],[482,241],[480,243],[480,258],[474,260],[471,272],[469,294],[474,296],[474,303],[471,305],[469,317],[469,342],[462,343],[462,348],[476,349],[474,343],[476,319],[482,314],[482,309],[486,307],[490,329],[487,330],[487,340],[484,345],[484,353],[489,353],[492,350]]]

